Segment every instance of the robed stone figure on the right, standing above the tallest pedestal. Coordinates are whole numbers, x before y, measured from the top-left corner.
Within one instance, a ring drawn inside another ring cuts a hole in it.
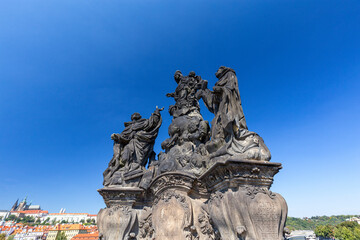
[[[270,160],[270,151],[263,139],[249,131],[246,125],[235,71],[222,66],[215,75],[218,81],[213,91],[206,88],[197,94],[215,114],[211,122],[211,139],[206,143],[210,158],[237,156],[249,160]]]

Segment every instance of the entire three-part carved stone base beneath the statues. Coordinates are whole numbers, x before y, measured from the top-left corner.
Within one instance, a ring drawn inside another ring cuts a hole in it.
[[[229,159],[202,176],[167,172],[147,190],[103,188],[106,240],[281,240],[287,205],[269,188],[281,164]]]

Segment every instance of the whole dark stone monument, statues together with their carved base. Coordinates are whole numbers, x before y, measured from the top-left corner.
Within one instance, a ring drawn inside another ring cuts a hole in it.
[[[263,139],[249,131],[235,71],[220,67],[208,81],[176,71],[173,117],[164,152],[153,151],[162,109],[134,113],[113,134],[114,155],[99,193],[100,239],[283,240],[287,205],[270,191],[282,168],[269,162]],[[211,127],[199,100],[214,114]]]

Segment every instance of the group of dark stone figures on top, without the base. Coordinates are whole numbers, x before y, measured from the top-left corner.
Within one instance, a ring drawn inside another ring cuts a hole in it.
[[[153,146],[163,109],[156,108],[149,119],[143,119],[139,113],[132,114],[124,131],[111,135],[114,156],[104,172],[104,185],[121,185],[124,174],[145,170],[148,164],[157,165],[160,173],[185,170],[199,175],[219,159],[269,161],[270,151],[263,139],[247,128],[235,71],[220,67],[215,75],[218,81],[211,91],[208,82],[195,72],[188,76],[175,72],[178,86],[175,92],[166,95],[175,100],[169,107],[173,116],[170,138],[161,144],[165,152],[159,154],[159,162],[155,162]],[[200,114],[200,99],[215,115],[211,128]]]

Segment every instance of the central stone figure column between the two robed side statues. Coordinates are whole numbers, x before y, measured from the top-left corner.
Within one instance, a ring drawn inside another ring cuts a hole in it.
[[[209,140],[209,123],[200,114],[196,93],[202,88],[203,81],[194,71],[184,76],[176,71],[174,79],[178,84],[173,93],[175,104],[169,107],[173,120],[169,126],[170,138],[161,143],[165,153],[159,154],[160,172],[184,169],[200,174],[205,165],[206,150],[204,143]]]

